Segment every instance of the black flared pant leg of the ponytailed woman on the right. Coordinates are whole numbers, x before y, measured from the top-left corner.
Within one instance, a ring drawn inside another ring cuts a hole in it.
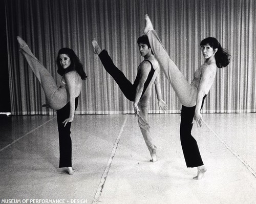
[[[203,107],[205,97],[206,95],[203,98],[201,109]],[[180,141],[187,167],[199,167],[203,165],[197,141],[191,135],[195,109],[196,106],[182,106],[181,108]]]

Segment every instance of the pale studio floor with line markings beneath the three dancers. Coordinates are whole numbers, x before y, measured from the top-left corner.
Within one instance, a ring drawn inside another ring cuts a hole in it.
[[[194,126],[208,168],[194,180],[179,139],[179,114],[150,115],[158,161],[134,115],[78,115],[72,124],[74,175],[58,168],[55,116],[0,119],[0,203],[256,203],[256,114],[203,114]]]

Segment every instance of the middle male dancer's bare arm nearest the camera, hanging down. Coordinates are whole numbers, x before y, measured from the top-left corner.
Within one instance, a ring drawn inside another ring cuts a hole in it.
[[[139,84],[136,88],[136,94],[135,94],[135,100],[133,103],[133,107],[134,107],[134,111],[136,116],[139,117],[139,107],[138,107],[138,103],[140,100],[140,97],[142,95],[143,92],[143,88],[144,88],[144,83],[146,82],[147,76],[151,71],[151,64],[150,62],[144,61],[140,64],[138,70],[140,70],[140,80],[139,80]]]

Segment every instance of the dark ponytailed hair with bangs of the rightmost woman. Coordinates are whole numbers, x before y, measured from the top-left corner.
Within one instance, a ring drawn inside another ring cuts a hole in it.
[[[203,39],[200,43],[200,46],[205,46],[209,44],[209,46],[213,49],[218,48],[218,51],[215,53],[216,64],[219,68],[223,68],[229,64],[230,55],[226,49],[221,47],[221,44],[214,37],[207,37]]]

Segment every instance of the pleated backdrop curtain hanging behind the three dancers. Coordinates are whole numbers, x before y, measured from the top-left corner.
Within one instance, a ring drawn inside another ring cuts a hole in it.
[[[21,36],[56,83],[58,50],[71,48],[88,78],[83,81],[76,114],[133,113],[133,104],[107,74],[91,39],[109,52],[132,82],[140,57],[137,38],[148,14],[170,58],[191,82],[203,63],[200,41],[216,37],[229,50],[231,62],[218,69],[202,112],[256,111],[256,2],[253,0],[5,0],[11,112],[13,115],[54,114],[26,60],[19,54]],[[163,73],[160,76],[168,113],[181,104]],[[150,113],[161,113],[153,88]]]

